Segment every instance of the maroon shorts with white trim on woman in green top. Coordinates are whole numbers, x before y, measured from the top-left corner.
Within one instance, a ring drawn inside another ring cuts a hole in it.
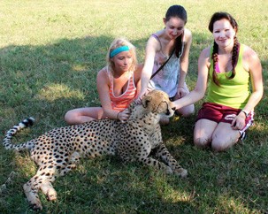
[[[202,118],[212,120],[216,123],[229,123],[231,124],[234,117],[240,113],[240,109],[234,109],[225,105],[217,103],[203,103],[202,108],[198,111],[196,121]],[[242,135],[250,126],[253,125],[254,111],[249,112],[249,117],[245,119],[246,125],[239,130]],[[195,121],[195,122],[196,122]]]

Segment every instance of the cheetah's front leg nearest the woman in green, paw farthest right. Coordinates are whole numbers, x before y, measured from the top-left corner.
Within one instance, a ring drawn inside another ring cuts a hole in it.
[[[188,175],[187,170],[183,169],[180,164],[178,164],[163,143],[157,148],[156,156],[160,157],[166,164],[168,164],[172,168],[173,173],[180,175],[182,178]]]

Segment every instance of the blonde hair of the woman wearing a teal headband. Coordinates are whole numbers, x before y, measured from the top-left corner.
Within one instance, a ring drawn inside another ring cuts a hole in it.
[[[137,56],[136,56],[136,49],[135,49],[134,45],[131,42],[128,42],[125,38],[117,38],[113,42],[111,42],[111,46],[110,46],[110,48],[107,52],[107,56],[106,56],[107,66],[112,74],[115,72],[115,65],[114,65],[114,62],[112,60],[112,57],[110,57],[110,54],[111,54],[112,50],[115,50],[121,46],[128,46],[129,52],[131,53],[132,58],[133,58],[132,65],[130,65],[130,67],[129,67],[129,71],[135,71],[136,66],[138,64]]]

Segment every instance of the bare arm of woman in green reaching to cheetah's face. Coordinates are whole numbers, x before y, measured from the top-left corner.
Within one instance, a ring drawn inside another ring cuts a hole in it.
[[[189,104],[201,100],[207,88],[207,80],[210,67],[210,48],[203,50],[198,58],[198,76],[195,89],[187,96],[183,96],[179,100],[174,101],[176,109],[180,109]]]

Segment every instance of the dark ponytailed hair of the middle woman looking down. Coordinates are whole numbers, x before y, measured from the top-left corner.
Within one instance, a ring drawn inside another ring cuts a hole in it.
[[[169,9],[165,13],[165,20],[168,21],[172,17],[180,18],[184,21],[184,24],[187,23],[188,19],[187,11],[181,5],[175,4],[169,7]],[[180,36],[176,38],[176,44],[175,44],[176,57],[180,57],[181,55],[183,34],[184,33],[180,34]]]

